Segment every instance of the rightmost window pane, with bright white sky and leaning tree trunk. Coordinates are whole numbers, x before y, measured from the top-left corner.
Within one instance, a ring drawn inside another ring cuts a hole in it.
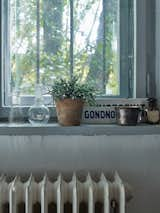
[[[74,70],[100,95],[119,94],[118,0],[74,1]]]

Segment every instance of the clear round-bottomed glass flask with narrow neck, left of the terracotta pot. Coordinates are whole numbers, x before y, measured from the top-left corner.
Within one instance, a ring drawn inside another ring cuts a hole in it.
[[[49,120],[49,109],[44,105],[42,86],[35,87],[35,102],[28,110],[28,120],[32,125],[44,125]]]

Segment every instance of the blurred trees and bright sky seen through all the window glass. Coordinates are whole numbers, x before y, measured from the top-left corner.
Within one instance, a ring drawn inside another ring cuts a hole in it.
[[[12,91],[33,95],[36,0],[9,1]],[[40,0],[40,82],[78,74],[98,95],[119,95],[119,0]],[[71,53],[71,45],[73,52]]]

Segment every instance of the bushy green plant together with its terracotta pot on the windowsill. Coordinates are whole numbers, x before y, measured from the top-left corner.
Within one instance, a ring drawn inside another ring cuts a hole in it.
[[[58,122],[63,126],[80,125],[84,103],[91,105],[95,101],[94,88],[80,83],[75,76],[55,80],[49,93],[55,100]]]

